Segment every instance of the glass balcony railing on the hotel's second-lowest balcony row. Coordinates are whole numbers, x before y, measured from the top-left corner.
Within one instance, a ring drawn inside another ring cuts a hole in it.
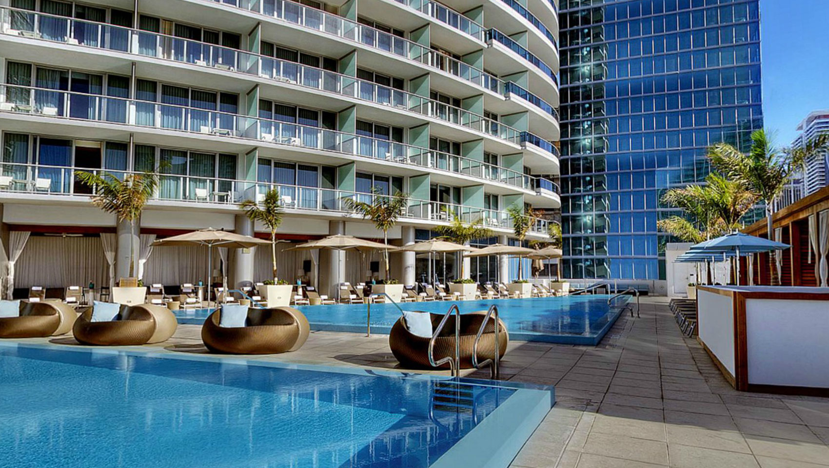
[[[285,123],[211,109],[125,99],[99,94],[83,94],[29,86],[0,86],[0,110],[40,114],[46,117],[74,118],[139,127],[160,128],[219,137],[247,138],[256,141],[339,152],[429,167],[439,171],[473,176],[527,190],[534,187],[526,176],[502,166],[469,157],[415,147],[380,138],[337,132],[318,127]]]

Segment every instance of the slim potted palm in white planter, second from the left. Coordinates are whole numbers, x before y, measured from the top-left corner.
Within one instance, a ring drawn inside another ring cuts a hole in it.
[[[270,261],[273,267],[274,279],[264,281],[259,287],[259,295],[264,299],[266,306],[288,306],[293,295],[293,286],[287,281],[279,279],[276,264],[276,229],[282,224],[282,203],[279,201],[279,190],[271,189],[264,194],[261,205],[254,200],[244,200],[239,204],[248,219],[264,224],[270,231]]]

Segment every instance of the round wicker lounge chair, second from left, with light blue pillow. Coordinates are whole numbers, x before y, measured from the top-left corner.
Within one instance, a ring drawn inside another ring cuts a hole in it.
[[[72,333],[82,345],[146,345],[161,343],[176,332],[176,316],[152,304],[121,306],[114,321],[91,321],[92,307],[81,311]]]

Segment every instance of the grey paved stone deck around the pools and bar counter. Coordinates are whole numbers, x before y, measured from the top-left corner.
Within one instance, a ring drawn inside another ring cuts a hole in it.
[[[166,343],[126,348],[206,353],[200,330],[182,325]],[[250,359],[400,369],[387,336],[329,331],[296,352]],[[598,346],[511,341],[502,378],[554,384],[557,400],[512,468],[829,466],[829,398],[737,392],[681,335],[665,297],[642,297],[642,317],[620,316]]]

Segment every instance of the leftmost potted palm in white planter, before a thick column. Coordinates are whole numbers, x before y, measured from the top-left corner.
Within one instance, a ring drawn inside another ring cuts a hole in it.
[[[90,186],[95,195],[92,195],[92,205],[97,206],[107,213],[118,218],[119,223],[129,223],[129,267],[128,281],[131,286],[118,286],[111,284],[112,302],[121,304],[140,304],[144,302],[147,289],[139,286],[140,280],[136,278],[135,242],[133,233],[136,231],[136,224],[141,220],[141,212],[144,205],[155,194],[158,187],[158,171],[156,172],[133,172],[124,175],[123,180],[104,172],[96,174],[87,171],[77,171],[75,175],[78,180]],[[113,278],[110,278],[112,280]]]

